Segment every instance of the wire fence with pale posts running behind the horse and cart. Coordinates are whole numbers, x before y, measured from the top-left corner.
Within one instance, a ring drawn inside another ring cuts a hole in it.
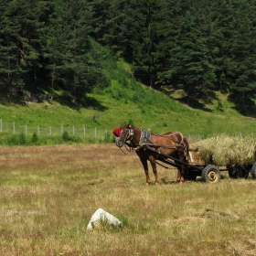
[[[90,138],[90,139],[105,139],[112,136],[112,129],[98,129],[98,128],[87,128],[86,126],[40,126],[40,125],[21,125],[16,123],[6,123],[0,119],[0,133],[9,133],[9,134],[20,134],[24,133],[25,135],[37,134],[37,136],[62,136],[63,133],[69,133],[70,136],[76,136],[80,138]],[[208,138],[214,133],[204,134],[184,134],[187,137],[188,141],[199,141],[205,138]],[[237,133],[233,134],[237,136],[251,136],[255,137],[256,133]]]

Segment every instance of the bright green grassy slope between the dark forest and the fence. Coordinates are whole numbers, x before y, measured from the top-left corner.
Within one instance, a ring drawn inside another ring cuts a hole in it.
[[[235,110],[228,95],[218,94],[211,105],[193,109],[181,103],[180,95],[144,87],[131,77],[123,61],[112,70],[112,85],[87,95],[87,107],[71,108],[59,102],[0,105],[6,123],[108,129],[132,122],[153,133],[180,131],[185,134],[255,133],[256,120]],[[86,100],[85,100],[86,101]]]

